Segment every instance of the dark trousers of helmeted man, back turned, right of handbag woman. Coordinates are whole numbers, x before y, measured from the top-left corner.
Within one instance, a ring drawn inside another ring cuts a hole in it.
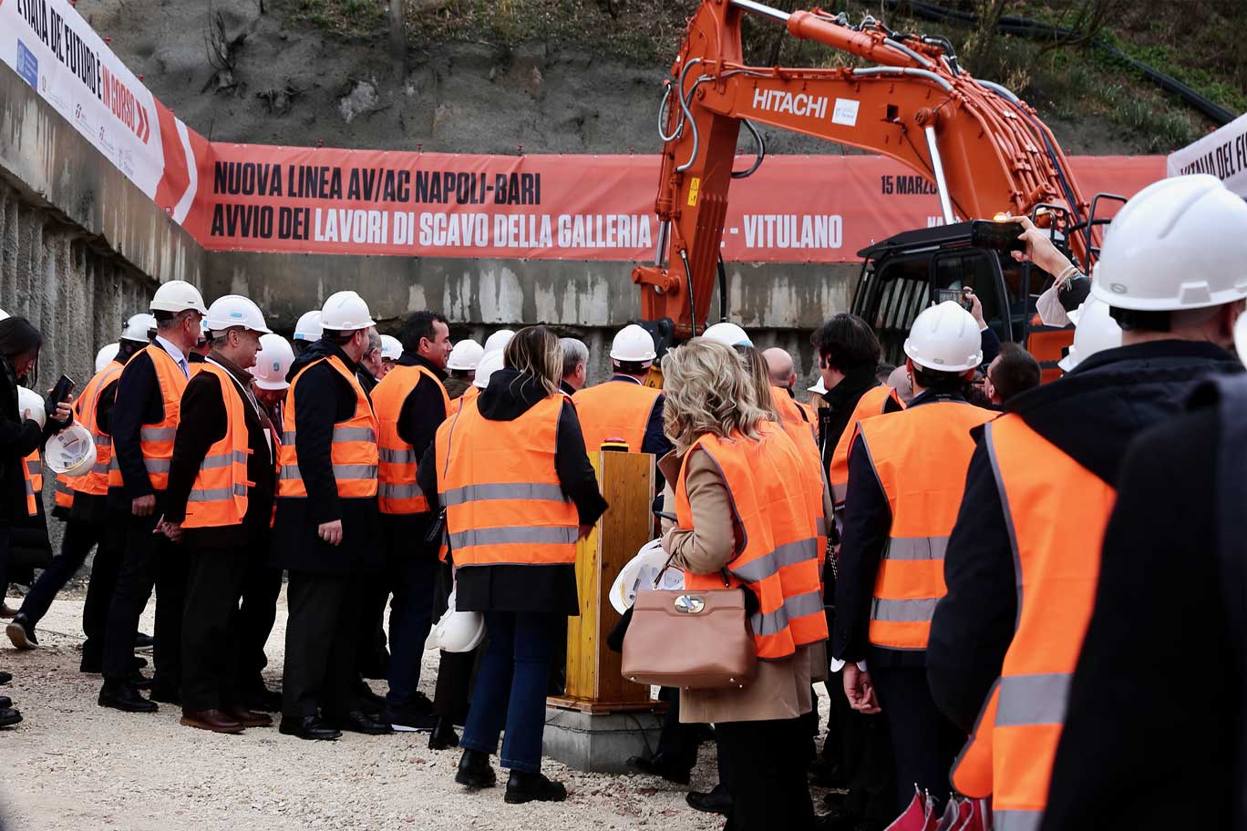
[[[949,770],[965,744],[965,734],[944,718],[927,685],[927,669],[872,667],[879,706],[888,716],[897,760],[899,816],[914,799],[914,787],[929,791],[939,816],[949,796]]]

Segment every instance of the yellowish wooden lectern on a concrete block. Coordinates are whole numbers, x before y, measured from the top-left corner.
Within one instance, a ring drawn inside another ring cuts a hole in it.
[[[549,705],[589,714],[652,710],[650,688],[624,680],[620,654],[606,635],[620,614],[609,594],[620,569],[653,538],[655,458],[651,453],[601,451],[590,460],[610,503],[576,551],[580,617],[567,618],[567,685]]]

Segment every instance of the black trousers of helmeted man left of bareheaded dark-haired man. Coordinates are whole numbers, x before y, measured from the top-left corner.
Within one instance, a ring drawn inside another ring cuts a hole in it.
[[[327,718],[359,708],[355,649],[365,578],[291,571],[282,715]],[[370,577],[370,576],[369,576]]]

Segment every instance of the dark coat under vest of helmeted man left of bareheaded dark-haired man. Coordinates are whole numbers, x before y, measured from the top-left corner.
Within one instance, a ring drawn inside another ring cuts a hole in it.
[[[289,378],[329,355],[337,355],[349,373],[358,369],[342,348],[318,340],[294,359]],[[277,498],[269,554],[269,564],[274,568],[345,574],[377,569],[384,561],[377,497],[338,498],[329,456],[333,425],[350,419],[357,402],[354,387],[328,361],[308,368],[294,386],[296,450],[308,495],[306,498]],[[334,520],[342,520],[342,543],[338,546],[320,539],[317,531],[322,523]]]

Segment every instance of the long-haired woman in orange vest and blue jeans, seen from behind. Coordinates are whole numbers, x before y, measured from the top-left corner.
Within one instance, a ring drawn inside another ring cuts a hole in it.
[[[489,756],[505,728],[506,801],[552,802],[567,791],[541,774],[550,655],[566,617],[580,612],[576,541],[606,501],[576,407],[559,391],[559,339],[545,326],[521,329],[504,358],[489,386],[438,429],[416,481],[431,510],[446,511],[455,608],[484,613],[489,632],[455,781],[494,785]]]

